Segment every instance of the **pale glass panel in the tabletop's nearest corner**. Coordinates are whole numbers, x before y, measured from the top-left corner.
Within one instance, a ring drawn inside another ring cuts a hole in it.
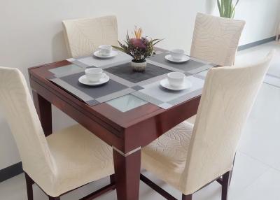
[[[138,97],[134,97],[131,94],[127,94],[123,97],[119,97],[110,101],[106,101],[110,106],[113,106],[114,108],[120,110],[121,112],[127,112],[128,110],[132,110],[134,108],[137,108],[139,106],[142,106],[147,101],[144,101],[142,99],[139,99]]]

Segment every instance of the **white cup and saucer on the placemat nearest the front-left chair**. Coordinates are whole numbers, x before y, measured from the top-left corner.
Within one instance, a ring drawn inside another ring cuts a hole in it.
[[[102,85],[110,80],[109,76],[100,68],[85,69],[85,75],[80,76],[78,81],[84,85]]]

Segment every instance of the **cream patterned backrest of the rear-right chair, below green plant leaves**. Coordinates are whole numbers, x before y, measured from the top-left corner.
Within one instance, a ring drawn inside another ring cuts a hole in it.
[[[190,56],[232,66],[245,22],[197,13]]]

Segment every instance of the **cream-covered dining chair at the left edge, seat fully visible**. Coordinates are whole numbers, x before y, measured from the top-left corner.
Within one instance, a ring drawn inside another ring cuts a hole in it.
[[[0,106],[20,152],[28,200],[33,200],[33,183],[50,200],[106,176],[111,176],[111,183],[88,197],[115,189],[111,147],[80,125],[45,137],[26,80],[18,69],[0,67]]]

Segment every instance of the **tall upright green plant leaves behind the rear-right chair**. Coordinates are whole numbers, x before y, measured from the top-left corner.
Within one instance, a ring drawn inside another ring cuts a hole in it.
[[[239,0],[236,0],[235,3],[233,2],[233,0],[217,0],[217,3],[221,17],[235,17],[235,8],[239,3]]]

